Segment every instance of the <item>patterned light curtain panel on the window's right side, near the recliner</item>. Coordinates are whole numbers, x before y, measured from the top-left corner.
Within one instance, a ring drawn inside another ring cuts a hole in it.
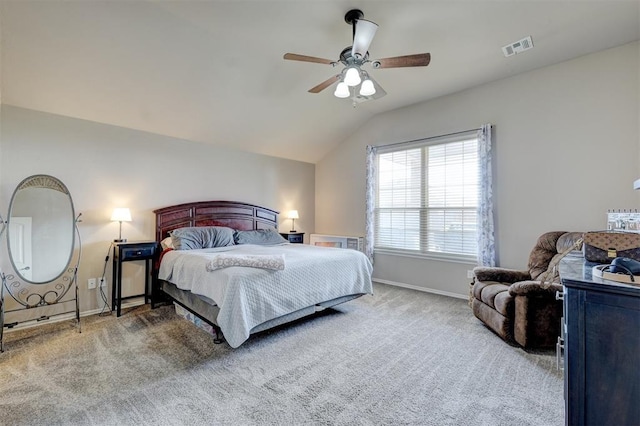
[[[493,173],[491,165],[491,124],[478,130],[480,194],[478,197],[478,264],[496,265],[493,226]]]

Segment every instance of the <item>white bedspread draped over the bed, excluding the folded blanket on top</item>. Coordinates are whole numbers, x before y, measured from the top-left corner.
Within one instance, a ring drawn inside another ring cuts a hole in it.
[[[207,271],[220,252],[284,255],[284,270],[230,267]],[[217,323],[231,347],[240,346],[252,329],[265,321],[347,295],[372,294],[373,267],[356,250],[303,244],[236,245],[202,250],[170,251],[158,278],[213,300]]]

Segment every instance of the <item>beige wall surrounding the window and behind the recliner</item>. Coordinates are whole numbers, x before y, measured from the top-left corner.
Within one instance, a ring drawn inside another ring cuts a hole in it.
[[[316,231],[364,234],[367,144],[492,123],[499,262],[524,267],[541,233],[640,208],[639,75],[636,42],[380,114],[316,165]],[[377,255],[374,276],[465,297],[472,266]]]

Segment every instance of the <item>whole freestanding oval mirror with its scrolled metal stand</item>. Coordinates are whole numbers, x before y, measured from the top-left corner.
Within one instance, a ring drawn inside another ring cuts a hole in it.
[[[22,192],[20,197],[17,197],[20,190],[25,189],[30,191]],[[43,190],[45,193],[56,191],[58,195],[54,197],[58,198],[61,197],[59,193],[62,193],[63,200],[66,200],[64,203],[69,205],[62,203],[61,208],[59,201],[54,199],[52,202],[51,194],[45,194]],[[39,216],[38,212],[43,210],[43,203],[46,202],[51,203],[49,207],[52,208],[48,210],[46,216]],[[58,205],[55,204],[56,202]],[[33,209],[37,212],[30,211]],[[59,213],[58,217],[55,217],[55,213]],[[10,274],[0,271],[0,352],[4,352],[5,327],[13,328],[25,322],[39,322],[48,320],[50,317],[75,313],[76,329],[78,333],[82,331],[77,282],[82,255],[82,241],[78,229],[80,215],[75,216],[73,202],[66,187],[51,176],[36,175],[27,178],[14,192],[9,208],[9,219],[5,222],[0,216],[2,224],[0,240],[4,232],[8,231],[7,246],[14,271]],[[26,223],[29,228],[26,232],[23,230],[24,224],[18,220],[25,218],[28,219]],[[32,220],[33,223],[31,223]],[[68,229],[67,232],[70,231],[71,234],[67,234],[66,239],[60,234],[65,229]],[[54,238],[51,238],[52,235]],[[25,251],[24,246],[28,246],[28,250]],[[60,251],[60,246],[63,251],[68,250],[62,256],[56,253],[56,250]],[[74,246],[77,250],[74,250]],[[25,253],[27,253],[26,256]],[[50,259],[55,259],[57,263],[51,265]],[[5,291],[11,298],[5,298]],[[11,307],[7,307],[7,301],[10,302]],[[67,306],[73,302],[75,302],[73,308]],[[62,306],[62,308],[54,308],[54,306]],[[49,308],[48,312],[45,308]],[[22,315],[21,312],[25,314]],[[33,314],[27,312],[33,312]],[[14,314],[20,319],[6,323],[5,314]]]

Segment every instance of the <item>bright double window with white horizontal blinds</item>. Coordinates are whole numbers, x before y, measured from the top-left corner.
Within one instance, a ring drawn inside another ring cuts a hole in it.
[[[475,260],[478,157],[477,132],[380,147],[375,249]]]

